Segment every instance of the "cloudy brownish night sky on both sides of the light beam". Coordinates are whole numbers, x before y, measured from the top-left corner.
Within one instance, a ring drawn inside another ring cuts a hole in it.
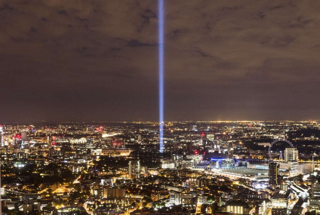
[[[157,1],[0,1],[0,122],[158,120]],[[320,1],[165,0],[165,120],[320,119]]]

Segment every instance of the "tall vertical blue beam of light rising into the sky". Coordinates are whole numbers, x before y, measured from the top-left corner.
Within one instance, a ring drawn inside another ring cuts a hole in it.
[[[163,80],[163,63],[164,63],[164,0],[158,0],[158,14],[159,14],[159,142],[160,153],[163,153],[163,100],[164,100],[164,80]]]

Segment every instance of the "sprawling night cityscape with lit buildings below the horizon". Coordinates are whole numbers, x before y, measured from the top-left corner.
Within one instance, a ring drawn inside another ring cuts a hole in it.
[[[163,125],[159,153],[158,122],[4,123],[3,213],[318,211],[320,122]]]

